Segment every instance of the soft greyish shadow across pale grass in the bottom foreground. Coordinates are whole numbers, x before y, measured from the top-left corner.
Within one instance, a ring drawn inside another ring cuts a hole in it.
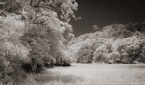
[[[35,81],[38,83],[51,82],[51,81],[75,83],[77,81],[82,81],[82,80],[83,80],[83,78],[77,77],[74,75],[62,75],[62,74],[57,73],[57,72],[49,72],[49,71],[44,71],[44,72],[37,74],[35,76]]]

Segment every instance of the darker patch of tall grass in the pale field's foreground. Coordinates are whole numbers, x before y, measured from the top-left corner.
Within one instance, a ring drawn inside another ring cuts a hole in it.
[[[56,82],[58,85],[72,85],[75,82],[81,81],[83,79],[74,75],[63,75],[58,72],[45,71],[37,74],[35,76],[35,80],[39,85],[47,85],[47,83],[49,83],[49,85],[55,85]]]

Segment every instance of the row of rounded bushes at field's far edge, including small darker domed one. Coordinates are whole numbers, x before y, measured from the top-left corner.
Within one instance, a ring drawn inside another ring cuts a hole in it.
[[[144,62],[143,39],[129,37],[123,39],[106,39],[95,51],[91,46],[84,46],[78,52],[78,63],[137,63]]]

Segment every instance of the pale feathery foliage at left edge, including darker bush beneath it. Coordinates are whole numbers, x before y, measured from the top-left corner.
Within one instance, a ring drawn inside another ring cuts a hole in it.
[[[3,84],[19,80],[26,76],[22,70],[22,61],[29,60],[28,48],[19,40],[23,36],[26,24],[20,20],[20,16],[0,17],[0,81]]]

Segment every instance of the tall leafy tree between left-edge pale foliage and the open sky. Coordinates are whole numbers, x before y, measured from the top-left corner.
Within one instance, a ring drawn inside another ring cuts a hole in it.
[[[73,38],[69,17],[75,17],[73,11],[77,9],[77,3],[75,0],[31,1],[24,6],[22,14],[32,27],[21,40],[31,49],[28,56],[32,72],[45,65],[69,65],[62,50]]]

